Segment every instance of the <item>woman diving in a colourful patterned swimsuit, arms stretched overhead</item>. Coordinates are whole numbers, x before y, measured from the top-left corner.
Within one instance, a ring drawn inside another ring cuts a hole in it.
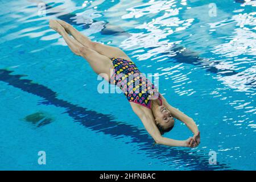
[[[200,132],[192,118],[172,107],[158,92],[137,66],[121,49],[92,42],[79,31],[62,20],[50,20],[49,27],[63,36],[73,53],[84,57],[93,71],[110,84],[121,88],[133,111],[157,144],[166,146],[196,147],[200,143]],[[69,36],[71,35],[71,36]],[[114,70],[111,74],[110,72]],[[134,86],[135,84],[135,86]],[[174,140],[162,135],[174,127],[174,118],[192,131],[187,140]]]

